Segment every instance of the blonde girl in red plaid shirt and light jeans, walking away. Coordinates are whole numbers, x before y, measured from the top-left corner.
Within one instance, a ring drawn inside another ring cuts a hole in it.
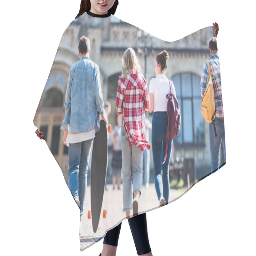
[[[124,52],[122,76],[118,81],[116,113],[122,116],[121,145],[123,159],[123,211],[126,217],[138,213],[143,177],[143,150],[146,140],[143,114],[150,107],[148,88],[132,48]],[[133,189],[132,189],[133,186]],[[132,200],[133,198],[133,200]]]

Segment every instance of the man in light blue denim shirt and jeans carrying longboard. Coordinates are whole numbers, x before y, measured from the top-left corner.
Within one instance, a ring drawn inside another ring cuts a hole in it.
[[[80,60],[71,68],[65,96],[63,143],[68,150],[68,187],[83,215],[87,186],[87,171],[95,132],[100,130],[100,119],[107,124],[98,65],[89,58],[90,41],[82,36],[78,44]]]

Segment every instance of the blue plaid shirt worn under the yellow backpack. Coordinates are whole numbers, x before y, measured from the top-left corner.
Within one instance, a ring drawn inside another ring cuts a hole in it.
[[[222,92],[221,92],[221,80],[220,80],[220,61],[217,54],[213,54],[209,57],[211,72],[214,73],[214,78],[212,79],[213,90],[214,90],[214,100],[216,108],[216,117],[224,120],[223,114],[223,104],[222,104]],[[204,62],[203,72],[201,76],[201,96],[203,98],[206,82],[208,75],[207,62]]]

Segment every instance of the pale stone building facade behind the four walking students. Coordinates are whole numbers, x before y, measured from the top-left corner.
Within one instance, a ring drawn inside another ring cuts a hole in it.
[[[168,78],[172,79],[173,76],[181,73],[191,73],[200,78],[204,61],[207,60],[210,55],[208,42],[211,37],[214,36],[214,33],[213,28],[204,28],[178,41],[170,43],[148,35],[140,29],[118,20],[116,17],[94,19],[94,17],[84,14],[71,22],[61,38],[34,119],[35,125],[46,134],[46,142],[51,151],[54,148],[53,143],[58,144],[57,147],[55,146],[54,152],[52,153],[63,170],[66,181],[68,151],[67,148],[64,148],[62,142],[63,131],[58,132],[56,127],[60,127],[65,115],[63,106],[69,69],[79,60],[78,42],[83,35],[90,39],[90,58],[97,63],[100,68],[104,101],[109,100],[112,105],[109,123],[114,127],[116,124],[115,90],[117,88],[118,77],[121,76],[122,73],[121,58],[128,47],[132,47],[135,52],[137,52],[142,68],[145,69],[145,66],[147,67],[147,70],[144,70],[144,74],[148,85],[150,79],[155,77],[154,68],[156,54],[163,50],[166,50],[169,54],[166,73]],[[200,88],[200,83],[198,86]],[[58,89],[58,92],[63,95],[62,102],[61,104],[55,102],[57,105],[54,105],[53,102],[50,106],[44,106],[45,93],[51,88]],[[198,111],[199,110],[200,107],[198,107]],[[152,115],[147,115],[149,120],[152,121]],[[204,143],[199,146],[186,144],[175,145],[175,152],[172,158],[176,159],[177,157],[179,157],[179,159],[194,159],[195,177],[197,180],[210,172],[209,125],[205,121]],[[225,162],[223,156],[221,156],[220,160],[220,164]],[[109,162],[110,161],[111,152],[109,156]],[[150,167],[150,180],[153,181],[152,151]]]

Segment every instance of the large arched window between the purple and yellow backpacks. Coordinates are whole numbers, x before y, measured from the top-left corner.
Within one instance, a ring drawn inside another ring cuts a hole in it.
[[[204,118],[200,111],[200,77],[192,73],[180,73],[172,77],[180,104],[181,126],[178,145],[204,146]]]

